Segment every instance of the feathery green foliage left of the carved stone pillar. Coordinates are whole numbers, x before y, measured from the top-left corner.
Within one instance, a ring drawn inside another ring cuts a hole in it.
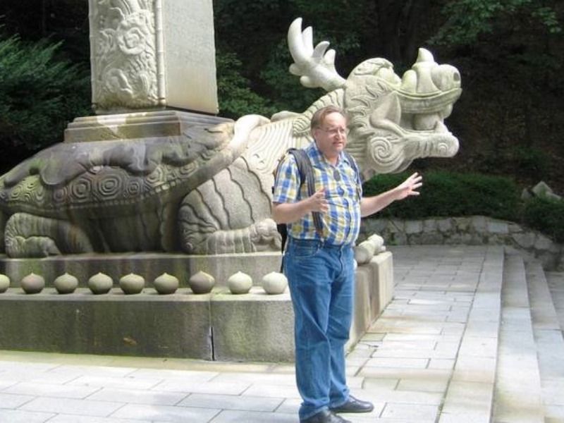
[[[60,47],[18,37],[0,39],[0,145],[27,154],[61,140],[66,123],[88,114],[89,78],[68,61],[54,59]]]

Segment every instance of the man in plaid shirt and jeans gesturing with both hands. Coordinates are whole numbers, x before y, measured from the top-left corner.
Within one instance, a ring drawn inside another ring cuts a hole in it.
[[[347,145],[345,114],[335,106],[312,117],[314,142],[305,148],[314,168],[314,195],[300,188],[295,159],[282,160],[274,185],[273,217],[288,223],[284,273],[295,314],[295,371],[302,396],[300,422],[343,423],[339,412],[370,412],[372,403],[349,393],[345,377],[345,343],[353,314],[355,264],[353,246],[360,217],[395,200],[418,195],[422,177],[414,173],[396,188],[362,197],[356,166],[343,154]],[[352,160],[352,159],[351,159]],[[321,212],[323,233],[312,212]],[[349,422],[350,423],[350,422]]]

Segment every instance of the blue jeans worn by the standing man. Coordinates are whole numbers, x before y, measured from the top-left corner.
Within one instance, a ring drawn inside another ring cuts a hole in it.
[[[288,238],[284,273],[295,316],[300,420],[348,400],[345,343],[353,314],[354,253],[317,240]]]

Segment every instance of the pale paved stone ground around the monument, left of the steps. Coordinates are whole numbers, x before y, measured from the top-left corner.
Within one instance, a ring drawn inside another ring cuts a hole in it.
[[[375,410],[345,417],[489,422],[503,247],[391,250],[394,300],[347,362]],[[0,351],[0,423],[294,423],[299,403],[289,364]]]

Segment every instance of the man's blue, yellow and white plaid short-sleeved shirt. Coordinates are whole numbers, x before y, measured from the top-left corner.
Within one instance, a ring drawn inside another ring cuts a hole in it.
[[[355,243],[360,231],[360,176],[343,153],[338,164],[333,166],[321,154],[315,142],[306,147],[305,151],[313,166],[314,191],[324,187],[325,197],[329,202],[329,211],[321,214],[324,223],[323,241],[331,245]],[[299,184],[300,174],[295,159],[292,154],[286,154],[278,167],[272,201],[298,202],[307,198],[307,183],[304,181],[301,189]],[[320,239],[311,213],[294,223],[288,223],[288,235],[298,239]]]

